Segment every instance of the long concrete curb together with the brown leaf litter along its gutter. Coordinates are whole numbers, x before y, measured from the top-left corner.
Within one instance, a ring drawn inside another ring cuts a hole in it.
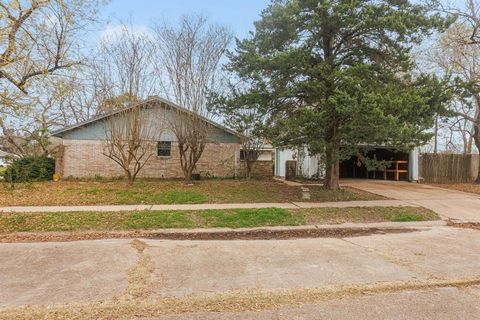
[[[17,232],[0,234],[0,243],[22,242],[71,242],[113,239],[146,240],[294,240],[312,238],[351,238],[370,235],[422,232],[435,226],[444,226],[444,221],[386,222],[339,225],[279,226],[258,228],[209,228],[209,229],[157,229],[130,231],[82,231],[82,232]]]

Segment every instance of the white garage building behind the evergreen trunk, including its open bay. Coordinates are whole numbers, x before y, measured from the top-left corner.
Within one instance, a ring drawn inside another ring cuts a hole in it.
[[[373,147],[367,158],[389,161],[386,170],[368,171],[362,159],[351,157],[340,163],[340,178],[385,179],[418,181],[419,150],[403,151],[402,148]],[[275,176],[290,178],[300,176],[321,179],[325,175],[325,165],[319,156],[310,156],[306,148],[275,150]]]

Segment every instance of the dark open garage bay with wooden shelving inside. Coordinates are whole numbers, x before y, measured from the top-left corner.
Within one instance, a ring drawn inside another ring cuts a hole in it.
[[[368,160],[388,161],[384,169],[367,170]],[[353,156],[340,163],[340,178],[395,181],[418,180],[418,150],[374,147],[365,156]]]

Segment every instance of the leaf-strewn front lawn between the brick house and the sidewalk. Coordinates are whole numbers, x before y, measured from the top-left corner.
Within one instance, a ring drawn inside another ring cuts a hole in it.
[[[384,199],[345,188],[325,190],[309,186],[309,201]],[[0,206],[61,206],[109,204],[196,204],[302,201],[301,189],[276,180],[212,179],[187,185],[180,180],[139,180],[127,187],[122,181],[60,181],[0,187]]]

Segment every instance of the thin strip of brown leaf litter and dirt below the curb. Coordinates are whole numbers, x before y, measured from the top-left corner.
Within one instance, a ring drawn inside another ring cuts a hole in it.
[[[305,228],[291,230],[229,230],[201,232],[45,232],[1,234],[0,243],[8,242],[58,242],[99,239],[157,239],[157,240],[287,240],[301,238],[348,238],[374,234],[410,233],[415,228]]]

